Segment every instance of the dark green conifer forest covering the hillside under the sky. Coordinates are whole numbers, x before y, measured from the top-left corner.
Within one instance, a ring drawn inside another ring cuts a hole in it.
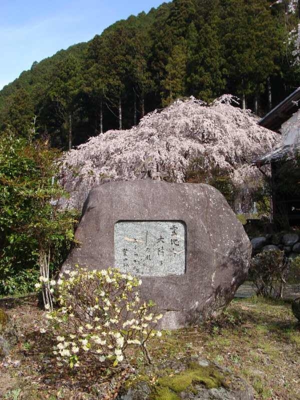
[[[299,86],[299,2],[173,0],[60,50],[0,91],[0,127],[37,115],[54,146],[135,125],[177,97],[231,93],[262,115]]]

